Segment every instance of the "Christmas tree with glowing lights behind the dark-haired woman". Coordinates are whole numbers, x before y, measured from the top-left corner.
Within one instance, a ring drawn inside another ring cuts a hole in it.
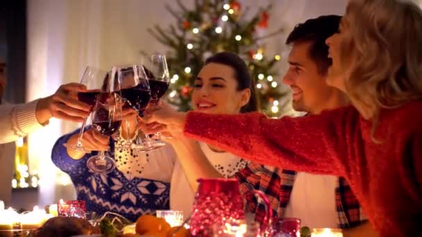
[[[276,81],[276,64],[281,57],[267,55],[264,45],[267,38],[282,33],[280,28],[267,34],[271,6],[251,16],[249,9],[242,10],[236,0],[195,0],[193,9],[188,9],[180,0],[177,3],[180,10],[166,6],[176,18],[176,24],[167,29],[160,26],[149,29],[153,37],[170,49],[166,55],[171,75],[169,103],[181,111],[189,110],[192,82],[203,62],[214,53],[229,51],[237,53],[248,65],[256,82],[262,112],[280,116],[286,106],[282,103],[285,100],[280,100],[286,93]]]

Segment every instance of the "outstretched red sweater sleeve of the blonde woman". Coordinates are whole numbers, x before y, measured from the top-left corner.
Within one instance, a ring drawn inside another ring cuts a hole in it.
[[[348,146],[359,121],[353,107],[318,116],[269,119],[264,114],[212,115],[189,112],[185,135],[269,166],[343,175]],[[351,150],[351,149],[350,149]],[[341,160],[341,161],[340,161]]]

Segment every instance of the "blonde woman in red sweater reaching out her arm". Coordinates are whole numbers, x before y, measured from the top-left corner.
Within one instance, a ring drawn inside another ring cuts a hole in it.
[[[353,106],[282,119],[164,106],[146,120],[253,161],[346,177],[381,236],[420,236],[421,26],[422,11],[410,1],[348,2],[339,32],[327,40],[328,83]]]

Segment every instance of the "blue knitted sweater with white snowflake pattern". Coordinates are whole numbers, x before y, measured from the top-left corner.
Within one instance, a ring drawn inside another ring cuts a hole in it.
[[[107,175],[92,173],[86,161],[97,152],[79,160],[71,159],[63,144],[78,132],[60,137],[53,146],[51,159],[71,177],[78,200],[86,202],[87,211],[95,211],[99,215],[112,211],[135,222],[143,214],[154,215],[156,210],[169,209],[169,183],[139,177],[127,179],[117,168]],[[110,144],[110,156],[114,157],[114,143],[110,141]]]

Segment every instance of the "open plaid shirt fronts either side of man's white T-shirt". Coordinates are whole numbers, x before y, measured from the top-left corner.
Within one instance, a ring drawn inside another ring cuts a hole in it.
[[[279,214],[283,213],[287,204],[289,204],[296,172],[292,170],[282,170],[282,175],[280,177],[281,194],[280,209],[278,210]],[[339,217],[339,228],[346,229],[356,227],[368,220],[360,208],[360,204],[357,202],[355,195],[352,193],[351,187],[346,182],[346,179],[342,177],[339,177],[339,182],[335,188],[335,200]]]

